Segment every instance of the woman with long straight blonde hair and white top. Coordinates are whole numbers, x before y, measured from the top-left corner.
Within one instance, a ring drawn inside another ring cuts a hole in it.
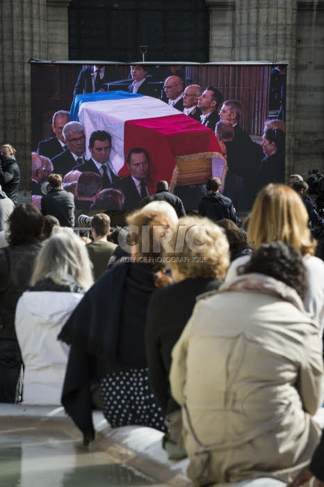
[[[306,311],[318,321],[319,333],[324,328],[324,262],[314,257],[316,240],[307,225],[308,214],[302,199],[284,184],[268,184],[257,195],[248,223],[248,243],[254,248],[272,241],[282,241],[300,250],[307,271],[308,291],[304,298]],[[229,266],[226,281],[236,277],[238,266],[249,255]]]

